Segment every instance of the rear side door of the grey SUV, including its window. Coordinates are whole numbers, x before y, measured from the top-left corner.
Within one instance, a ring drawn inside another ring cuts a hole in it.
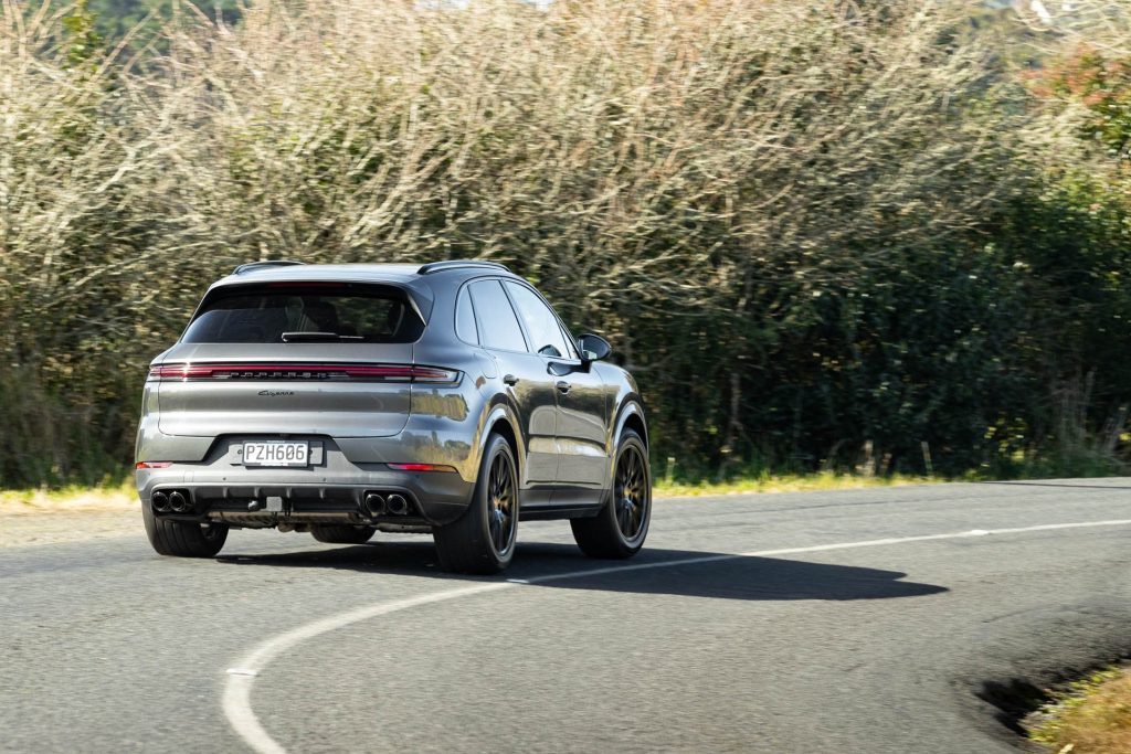
[[[558,479],[555,418],[558,404],[554,384],[543,359],[532,354],[523,328],[502,284],[494,278],[480,279],[467,287],[480,345],[499,367],[504,389],[518,411],[526,458],[521,460],[523,503],[549,501]],[[545,493],[545,494],[539,494]]]

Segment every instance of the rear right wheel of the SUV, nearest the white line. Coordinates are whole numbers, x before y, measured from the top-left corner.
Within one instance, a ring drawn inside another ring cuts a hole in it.
[[[507,439],[487,437],[472,504],[435,530],[440,567],[459,573],[498,573],[515,555],[518,540],[518,466]]]

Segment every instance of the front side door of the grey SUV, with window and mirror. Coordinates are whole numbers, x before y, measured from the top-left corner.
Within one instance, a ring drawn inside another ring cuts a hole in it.
[[[513,280],[503,285],[554,383],[559,482],[554,505],[599,502],[608,473],[605,385],[595,372],[584,369],[566,329],[542,296]]]

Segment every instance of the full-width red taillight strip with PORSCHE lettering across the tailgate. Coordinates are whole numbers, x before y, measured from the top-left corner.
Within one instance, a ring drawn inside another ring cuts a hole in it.
[[[455,382],[459,373],[408,364],[165,364],[149,370],[158,380],[395,380]]]

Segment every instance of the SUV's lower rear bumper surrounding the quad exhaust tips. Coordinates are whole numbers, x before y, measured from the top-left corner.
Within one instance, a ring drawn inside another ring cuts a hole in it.
[[[222,441],[199,463],[138,469],[138,496],[143,504],[152,504],[157,492],[182,491],[189,510],[158,514],[222,519],[236,526],[288,521],[441,526],[459,518],[470,502],[475,484],[455,471],[402,471],[385,463],[353,463],[333,440],[318,437],[312,442],[321,442],[323,452],[310,467],[249,468],[235,452],[242,443]],[[370,492],[400,494],[408,500],[409,510],[372,515],[363,505]]]

